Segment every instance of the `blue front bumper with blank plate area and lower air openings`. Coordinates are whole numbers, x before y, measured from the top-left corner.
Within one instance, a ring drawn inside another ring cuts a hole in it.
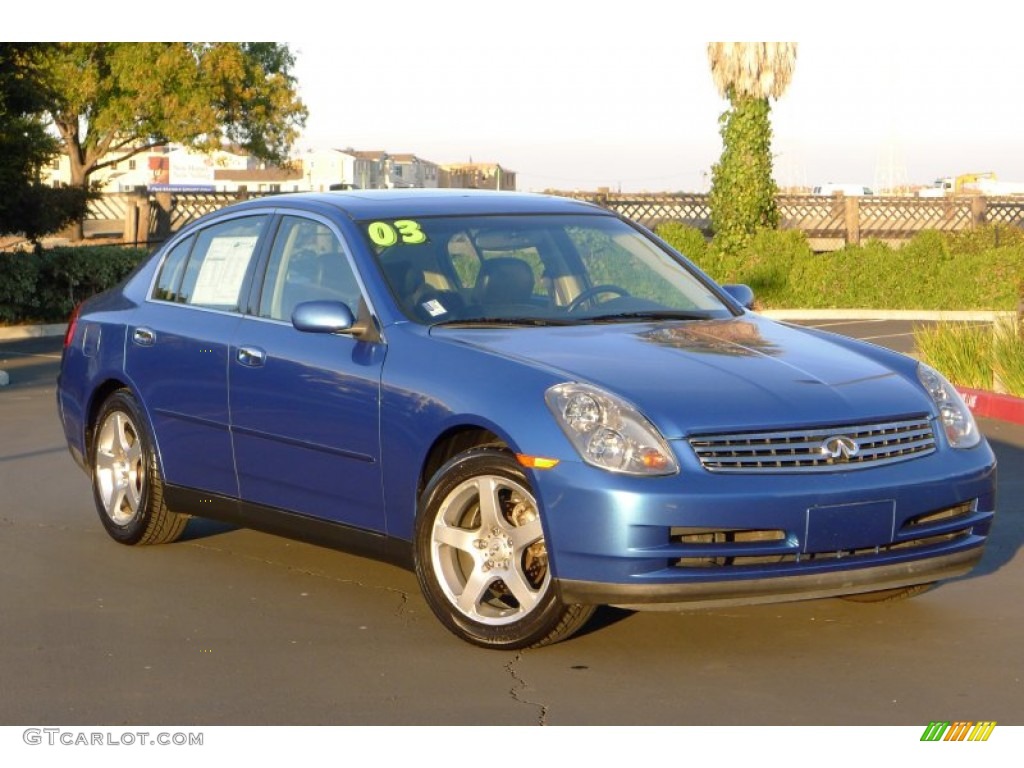
[[[566,602],[668,608],[897,589],[968,572],[995,514],[986,443],[891,466],[672,477],[535,471]]]

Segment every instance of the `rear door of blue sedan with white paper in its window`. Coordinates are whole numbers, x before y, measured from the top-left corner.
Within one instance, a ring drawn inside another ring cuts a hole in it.
[[[174,245],[128,329],[125,370],[145,404],[168,483],[238,496],[227,349],[269,218],[229,218]]]

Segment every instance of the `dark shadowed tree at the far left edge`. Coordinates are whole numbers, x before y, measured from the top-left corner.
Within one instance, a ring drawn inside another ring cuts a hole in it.
[[[0,43],[0,233],[37,241],[85,212],[84,189],[54,189],[39,169],[59,152],[42,119],[33,43]]]

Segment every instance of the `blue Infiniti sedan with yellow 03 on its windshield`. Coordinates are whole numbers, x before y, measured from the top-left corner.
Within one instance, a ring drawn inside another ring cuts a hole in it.
[[[995,460],[955,390],[753,298],[578,201],[253,200],[76,310],[57,402],[116,541],[198,515],[408,564],[489,648],[969,571]]]

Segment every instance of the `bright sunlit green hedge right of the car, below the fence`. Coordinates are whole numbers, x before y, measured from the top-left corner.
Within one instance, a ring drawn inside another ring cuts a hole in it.
[[[1005,225],[825,254],[798,230],[764,230],[735,255],[683,224],[657,232],[720,283],[749,285],[763,308],[1007,310],[1017,308],[1024,282],[1024,230]]]

